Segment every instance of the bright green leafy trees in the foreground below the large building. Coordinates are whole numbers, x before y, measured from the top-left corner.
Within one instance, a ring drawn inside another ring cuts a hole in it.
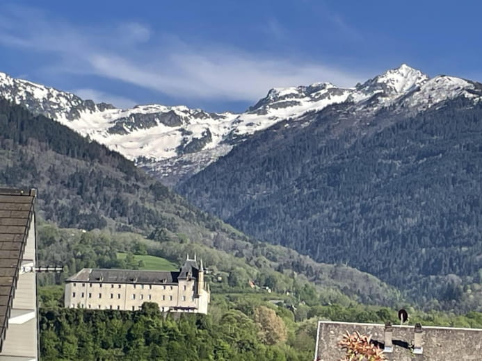
[[[313,357],[319,319],[397,321],[394,310],[360,305],[305,307],[299,317],[255,296],[228,296],[214,303],[211,314],[176,318],[164,317],[152,303],[136,312],[42,308],[42,360],[305,361]],[[412,314],[412,319],[410,324],[424,326],[482,326],[477,312]]]

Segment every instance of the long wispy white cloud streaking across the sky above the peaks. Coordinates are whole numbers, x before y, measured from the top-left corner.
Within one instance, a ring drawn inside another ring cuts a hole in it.
[[[54,72],[111,78],[184,99],[254,101],[271,87],[315,81],[353,86],[364,78],[295,56],[278,58],[223,44],[200,48],[160,35],[154,39],[149,26],[136,22],[85,28],[31,8],[3,12],[0,44],[54,56],[53,65],[44,65]],[[95,100],[111,97],[88,91]]]

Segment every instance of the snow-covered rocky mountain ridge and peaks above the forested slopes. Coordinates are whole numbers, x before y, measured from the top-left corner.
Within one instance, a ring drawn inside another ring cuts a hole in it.
[[[186,181],[233,146],[280,121],[303,120],[342,104],[358,114],[414,113],[447,99],[480,99],[480,87],[453,76],[428,78],[401,65],[351,88],[330,83],[273,88],[246,112],[205,112],[157,104],[120,109],[0,73],[0,96],[118,151],[166,185]]]

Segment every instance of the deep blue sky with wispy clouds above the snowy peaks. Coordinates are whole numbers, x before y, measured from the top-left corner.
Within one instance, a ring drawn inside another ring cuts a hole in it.
[[[116,106],[242,111],[402,63],[482,81],[479,1],[39,3],[0,1],[0,72]]]

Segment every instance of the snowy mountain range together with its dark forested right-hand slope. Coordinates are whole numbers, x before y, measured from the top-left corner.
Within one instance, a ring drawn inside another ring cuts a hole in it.
[[[351,88],[273,88],[240,114],[119,109],[6,74],[0,97],[259,240],[367,271],[434,308],[482,308],[480,83],[401,65]]]

